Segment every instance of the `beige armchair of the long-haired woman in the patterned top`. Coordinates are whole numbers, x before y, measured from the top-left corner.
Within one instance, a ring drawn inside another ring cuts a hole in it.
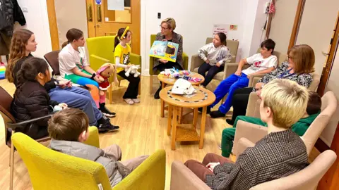
[[[311,73],[313,81],[311,82],[311,85],[309,86],[310,91],[316,91],[316,89],[319,86],[320,82],[320,75],[318,75],[316,72]],[[260,80],[261,77],[251,77],[249,80],[249,87],[255,87],[256,83],[258,83],[258,80]],[[260,106],[261,100],[258,98],[255,92],[252,92],[249,94],[249,103],[247,103],[246,108],[246,116],[254,117],[254,118],[260,118],[259,114],[259,106]]]

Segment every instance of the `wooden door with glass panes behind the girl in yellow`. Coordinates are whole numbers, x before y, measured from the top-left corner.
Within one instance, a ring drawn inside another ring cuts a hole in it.
[[[124,10],[112,10],[112,4],[123,0],[86,0],[88,37],[116,35],[121,27],[132,32],[132,53],[140,55],[140,0],[124,0]],[[116,5],[116,4],[115,4]]]

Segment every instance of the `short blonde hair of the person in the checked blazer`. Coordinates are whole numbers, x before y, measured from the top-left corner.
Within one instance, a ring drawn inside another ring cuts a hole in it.
[[[276,79],[261,90],[263,107],[273,114],[273,125],[290,128],[306,112],[309,92],[292,80]]]

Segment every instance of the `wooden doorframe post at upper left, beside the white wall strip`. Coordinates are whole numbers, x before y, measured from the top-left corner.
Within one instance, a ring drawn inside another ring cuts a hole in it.
[[[51,35],[52,50],[56,51],[60,49],[59,46],[59,33],[57,25],[57,16],[55,14],[54,0],[46,0],[48,23],[49,23],[49,34]]]

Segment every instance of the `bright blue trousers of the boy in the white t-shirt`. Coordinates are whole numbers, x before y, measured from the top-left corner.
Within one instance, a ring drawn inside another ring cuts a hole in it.
[[[225,80],[220,82],[217,89],[215,89],[214,94],[216,96],[215,102],[210,105],[211,108],[215,106],[219,101],[226,96],[228,93],[227,99],[222,105],[219,107],[219,110],[221,113],[227,113],[231,106],[232,106],[232,96],[234,93],[234,90],[247,87],[249,85],[249,79],[247,78],[247,75],[242,73],[241,76],[237,75],[230,75],[230,77],[227,77]]]

